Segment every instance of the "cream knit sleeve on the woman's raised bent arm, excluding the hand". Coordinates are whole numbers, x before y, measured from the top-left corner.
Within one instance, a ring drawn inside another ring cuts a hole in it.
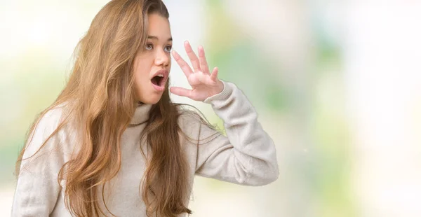
[[[222,92],[203,102],[223,120],[227,137],[220,134],[208,141],[215,130],[196,121],[199,139],[206,140],[198,145],[196,174],[247,186],[272,183],[279,176],[274,142],[241,90],[234,83],[222,83]]]

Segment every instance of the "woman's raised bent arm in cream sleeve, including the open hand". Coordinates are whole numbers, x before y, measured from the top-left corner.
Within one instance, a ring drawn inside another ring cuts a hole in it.
[[[173,50],[172,53],[192,90],[171,87],[170,91],[211,104],[215,113],[224,121],[228,136],[220,135],[199,144],[196,174],[250,186],[275,181],[279,169],[274,142],[258,123],[258,114],[253,106],[236,85],[218,79],[218,67],[210,73],[203,47],[198,48],[199,57],[188,41],[185,41],[185,50],[193,69],[178,52]],[[187,132],[192,132],[195,127],[199,128],[199,139],[207,139],[208,135],[215,134],[215,130],[206,125],[199,124],[198,127],[194,120],[187,125]]]

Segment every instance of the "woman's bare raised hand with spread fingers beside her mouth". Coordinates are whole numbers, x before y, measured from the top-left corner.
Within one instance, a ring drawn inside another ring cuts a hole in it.
[[[185,73],[189,85],[192,86],[192,90],[187,90],[182,87],[171,87],[170,91],[173,94],[189,97],[190,99],[201,102],[208,97],[212,97],[213,95],[222,92],[224,84],[218,79],[218,67],[213,68],[212,73],[210,73],[203,47],[199,46],[198,48],[199,58],[193,52],[192,46],[188,41],[185,41],[185,49],[194,70],[192,70],[189,64],[178,55],[178,52],[173,50],[172,53],[175,61]]]

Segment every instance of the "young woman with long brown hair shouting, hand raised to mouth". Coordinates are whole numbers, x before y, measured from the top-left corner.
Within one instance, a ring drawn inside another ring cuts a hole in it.
[[[185,216],[194,175],[262,186],[279,175],[272,139],[203,48],[173,43],[161,0],[113,0],[76,48],[67,85],[16,165],[12,216]],[[171,52],[192,90],[168,88]],[[227,137],[169,92],[210,104]]]

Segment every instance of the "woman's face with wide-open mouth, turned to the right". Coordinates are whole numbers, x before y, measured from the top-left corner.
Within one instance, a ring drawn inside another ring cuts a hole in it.
[[[136,55],[133,73],[138,100],[156,104],[161,99],[170,73],[173,39],[168,19],[152,13],[148,15],[148,20],[147,45]]]

